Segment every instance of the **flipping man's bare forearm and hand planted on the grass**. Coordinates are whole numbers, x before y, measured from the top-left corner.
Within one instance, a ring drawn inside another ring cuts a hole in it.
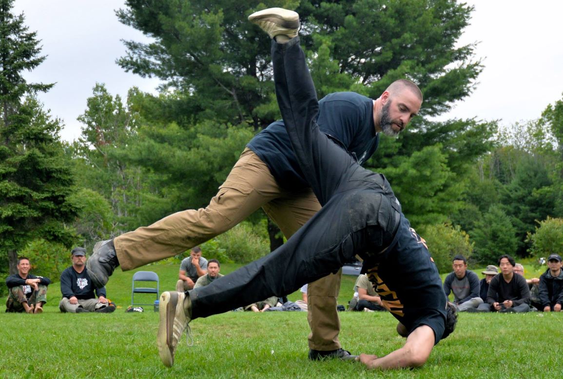
[[[368,368],[379,368],[382,370],[420,367],[430,357],[432,348],[434,348],[434,341],[434,330],[427,325],[422,325],[410,333],[402,348],[381,358],[377,357],[377,355],[360,354],[359,359]]]

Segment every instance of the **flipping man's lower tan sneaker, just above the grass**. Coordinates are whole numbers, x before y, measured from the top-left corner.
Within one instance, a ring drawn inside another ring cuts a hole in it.
[[[167,291],[160,295],[157,347],[160,359],[166,367],[172,367],[174,364],[178,340],[191,321],[186,315],[191,314],[190,310],[190,297],[186,297],[184,292]]]

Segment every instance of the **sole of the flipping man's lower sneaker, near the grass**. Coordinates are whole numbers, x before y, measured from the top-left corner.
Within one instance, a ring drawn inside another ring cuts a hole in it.
[[[175,301],[174,301],[175,300]],[[172,367],[174,364],[174,356],[169,346],[169,336],[172,336],[174,328],[174,317],[176,314],[176,305],[170,306],[170,303],[178,303],[177,292],[163,292],[160,295],[159,303],[159,323],[157,333],[157,348],[160,360],[166,367]]]

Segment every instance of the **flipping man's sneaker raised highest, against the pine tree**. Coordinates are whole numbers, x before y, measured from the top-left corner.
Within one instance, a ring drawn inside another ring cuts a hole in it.
[[[280,34],[287,35],[288,38],[297,37],[300,26],[298,13],[284,8],[268,8],[254,12],[248,16],[248,21],[260,26],[270,38]]]

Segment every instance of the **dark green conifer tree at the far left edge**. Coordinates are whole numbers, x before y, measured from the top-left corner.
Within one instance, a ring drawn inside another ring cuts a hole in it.
[[[33,238],[70,245],[64,222],[75,215],[67,200],[73,184],[59,139],[61,124],[35,98],[53,84],[28,83],[24,71],[45,57],[37,33],[13,0],[0,0],[0,270],[15,272],[17,252]]]

